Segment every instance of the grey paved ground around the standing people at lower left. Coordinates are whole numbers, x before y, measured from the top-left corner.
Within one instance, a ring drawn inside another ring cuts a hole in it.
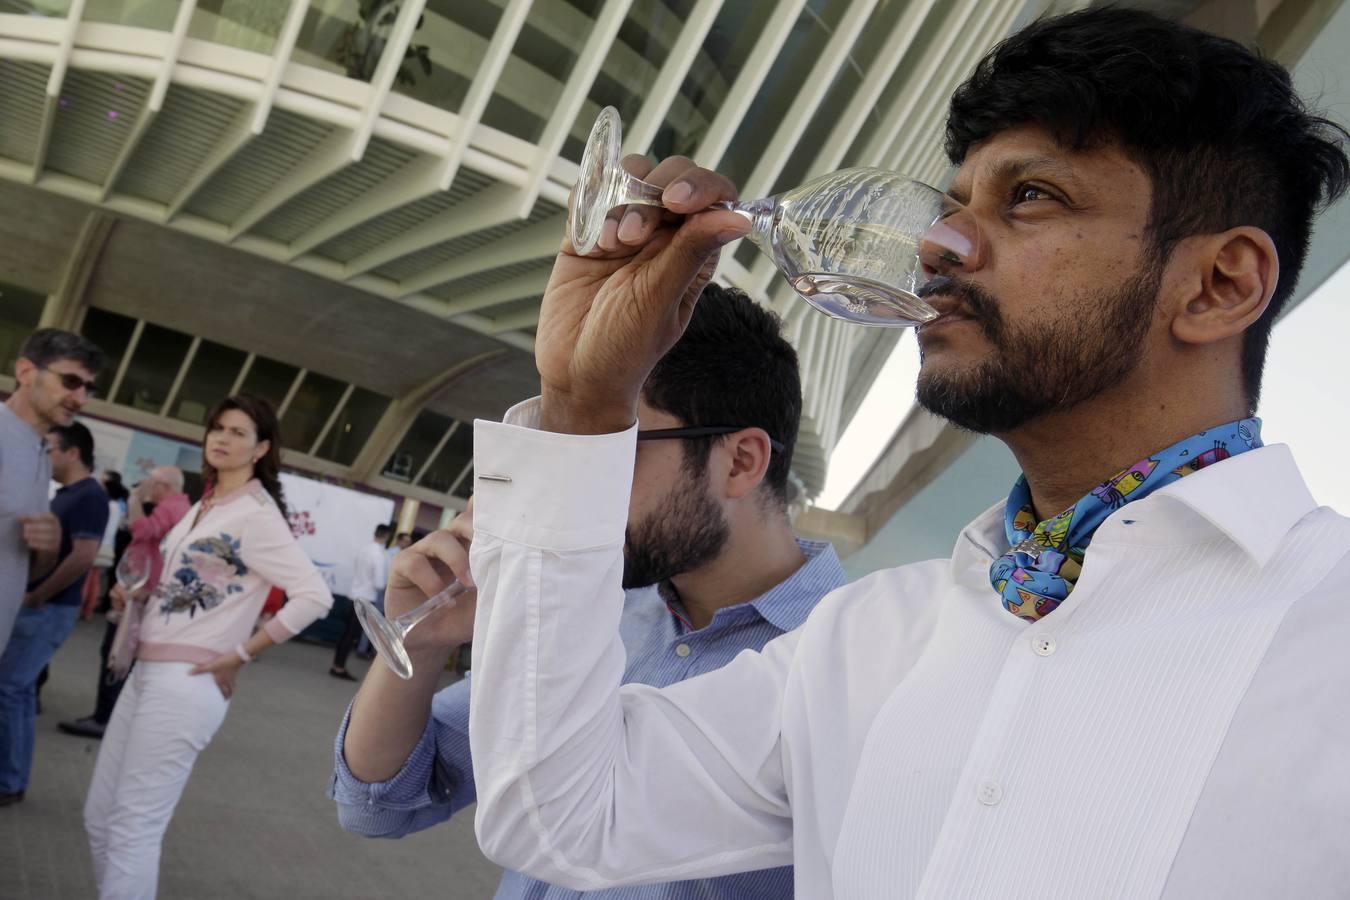
[[[94,896],[81,808],[99,745],[57,722],[93,708],[101,637],[100,622],[81,622],[53,661],[27,799],[0,810],[5,900]],[[244,671],[169,826],[161,900],[493,895],[498,869],[478,851],[473,810],[402,841],[338,826],[327,797],[332,739],[356,685],[328,676],[331,658],[331,648],[289,642]],[[354,673],[364,668],[352,661]]]

